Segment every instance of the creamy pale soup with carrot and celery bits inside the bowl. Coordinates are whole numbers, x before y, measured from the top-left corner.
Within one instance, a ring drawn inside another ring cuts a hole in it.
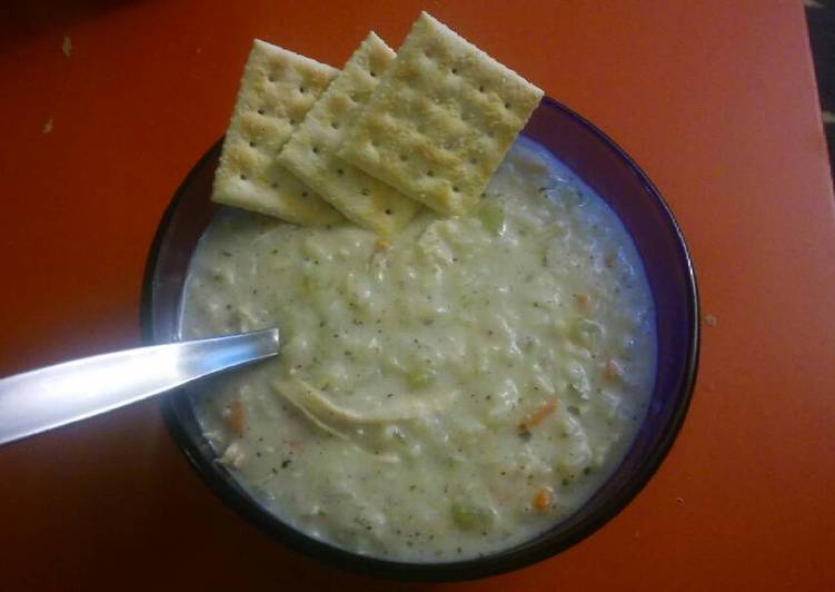
[[[381,240],[223,210],[183,337],[279,326],[278,358],[193,396],[220,462],[308,535],[398,561],[534,537],[606,480],[644,417],[655,313],[606,204],[519,139],[470,217]]]

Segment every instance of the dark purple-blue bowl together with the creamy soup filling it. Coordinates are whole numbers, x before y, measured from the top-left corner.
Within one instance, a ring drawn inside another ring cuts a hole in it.
[[[695,275],[592,124],[544,99],[471,214],[386,238],[213,205],[219,150],[160,223],[142,328],[281,328],[277,359],[161,401],[245,519],[337,566],[460,580],[575,544],[652,477],[695,381]]]

